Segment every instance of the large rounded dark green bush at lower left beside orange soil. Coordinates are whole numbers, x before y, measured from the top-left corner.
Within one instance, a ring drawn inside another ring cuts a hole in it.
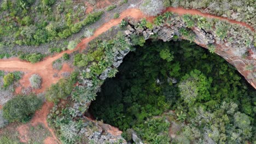
[[[9,122],[27,122],[42,102],[36,95],[18,95],[3,106],[3,116]]]

